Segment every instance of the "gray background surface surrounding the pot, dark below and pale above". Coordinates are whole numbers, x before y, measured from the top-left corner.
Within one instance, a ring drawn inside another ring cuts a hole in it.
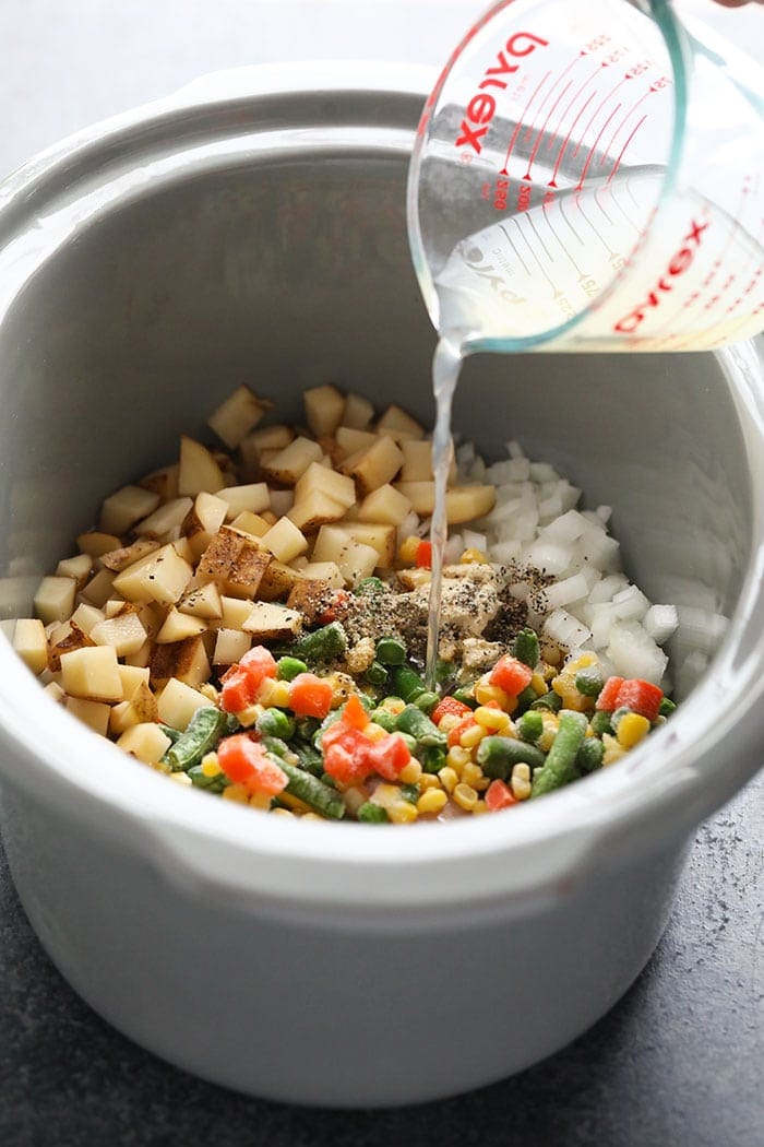
[[[0,175],[61,135],[220,68],[317,57],[436,65],[480,7],[465,0],[0,0]],[[677,0],[677,7],[761,53],[764,13],[753,6],[725,11],[709,0]],[[128,1043],[52,967],[0,849],[0,1142],[764,1144],[763,789],[759,774],[700,828],[655,955],[596,1028],[514,1079],[383,1113],[243,1099]]]

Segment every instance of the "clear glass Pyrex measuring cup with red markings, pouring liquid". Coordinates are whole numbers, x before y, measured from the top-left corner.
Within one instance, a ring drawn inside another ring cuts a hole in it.
[[[440,76],[409,175],[441,335],[467,353],[758,333],[763,96],[753,61],[665,0],[495,3]]]

